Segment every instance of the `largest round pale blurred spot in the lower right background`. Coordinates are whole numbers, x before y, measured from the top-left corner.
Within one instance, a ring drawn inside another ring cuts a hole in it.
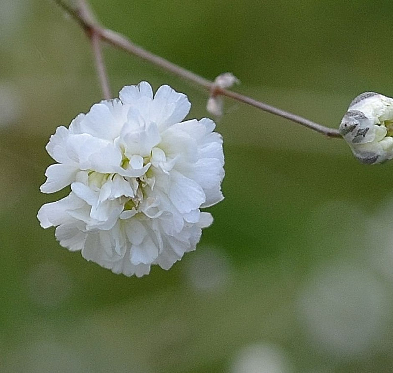
[[[368,269],[342,263],[309,276],[298,308],[313,348],[338,359],[365,356],[380,347],[391,312],[383,285]]]

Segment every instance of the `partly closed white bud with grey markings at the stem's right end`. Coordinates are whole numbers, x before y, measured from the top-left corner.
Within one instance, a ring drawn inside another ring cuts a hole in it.
[[[340,133],[362,163],[393,158],[393,98],[375,92],[357,96],[342,118]]]

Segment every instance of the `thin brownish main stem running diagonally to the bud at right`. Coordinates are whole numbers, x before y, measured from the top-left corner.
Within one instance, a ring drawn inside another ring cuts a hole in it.
[[[140,57],[146,61],[149,61],[153,63],[156,66],[159,66],[179,77],[182,77],[184,79],[187,79],[191,82],[197,83],[199,86],[202,86],[206,88],[211,95],[222,95],[226,97],[230,97],[234,100],[243,102],[245,104],[251,105],[253,107],[256,107],[258,109],[261,109],[265,112],[272,113],[274,115],[279,115],[285,119],[291,120],[293,122],[299,123],[307,128],[310,128],[316,132],[319,132],[321,134],[324,134],[328,137],[332,138],[342,138],[340,133],[338,132],[337,129],[335,128],[330,128],[330,127],[325,127],[321,124],[315,123],[309,119],[303,118],[301,116],[286,112],[284,110],[278,109],[274,106],[268,105],[264,102],[254,100],[253,98],[250,98],[248,96],[242,95],[240,93],[236,93],[233,91],[230,91],[228,89],[223,89],[215,85],[214,82],[209,81],[208,79],[205,79],[187,69],[184,69],[183,67],[180,67],[172,62],[169,62],[168,60],[157,56],[149,51],[146,51],[145,49],[135,45],[132,43],[130,40],[128,40],[125,36],[118,34],[117,32],[114,32],[110,29],[106,29],[101,27],[96,23],[94,18],[91,16],[91,12],[88,10],[86,1],[84,0],[79,0],[80,4],[82,6],[80,9],[72,9],[69,6],[65,5],[63,0],[55,0],[57,4],[59,4],[67,13],[69,13],[85,30],[90,30],[90,38],[93,37],[93,35],[96,35],[94,37],[100,38],[102,40],[105,40],[109,44],[112,44],[113,46],[123,49],[137,57]],[[81,11],[81,8],[83,8],[83,11]],[[91,31],[94,32],[91,32]],[[89,32],[88,32],[89,34]],[[97,55],[96,55],[97,56]],[[97,57],[96,57],[96,61]],[[105,71],[105,70],[104,70]],[[100,78],[101,79],[101,78]],[[102,80],[101,80],[102,81]],[[104,86],[103,86],[103,91],[104,91]],[[105,93],[104,93],[105,95]]]

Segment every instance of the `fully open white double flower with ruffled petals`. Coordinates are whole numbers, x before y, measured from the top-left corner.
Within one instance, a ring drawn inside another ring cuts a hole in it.
[[[140,277],[151,264],[169,269],[194,250],[212,223],[209,207],[223,199],[221,135],[212,120],[182,122],[187,96],[161,86],[125,86],[58,127],[46,146],[57,162],[44,193],[71,185],[44,204],[38,219],[55,226],[60,244],[115,273]]]

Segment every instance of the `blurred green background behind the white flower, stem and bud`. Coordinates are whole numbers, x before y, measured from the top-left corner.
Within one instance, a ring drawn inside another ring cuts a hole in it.
[[[91,0],[97,17],[206,78],[331,127],[393,96],[393,2]],[[88,41],[50,0],[0,2],[0,372],[366,373],[393,367],[393,163],[225,101],[225,200],[169,271],[115,275],[36,219],[44,146],[101,99]],[[207,95],[105,48],[113,94],[148,80]]]

